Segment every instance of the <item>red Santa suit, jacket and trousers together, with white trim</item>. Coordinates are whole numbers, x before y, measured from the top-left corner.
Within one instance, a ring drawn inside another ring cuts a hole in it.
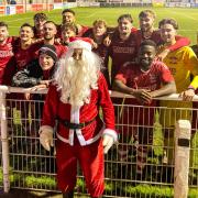
[[[98,78],[98,88],[91,89],[90,101],[82,107],[73,107],[61,101],[61,91],[51,86],[44,105],[41,129],[53,131],[57,124],[56,163],[58,188],[73,190],[76,185],[77,161],[84,172],[86,184],[91,197],[103,193],[103,134],[117,140],[114,132],[114,110],[109,97],[108,86],[102,74]],[[102,108],[103,121],[99,117]],[[64,124],[81,124],[81,129],[69,129]]]

